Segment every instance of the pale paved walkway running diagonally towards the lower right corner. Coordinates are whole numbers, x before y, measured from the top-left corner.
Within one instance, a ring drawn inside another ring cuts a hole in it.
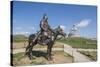
[[[71,46],[64,44],[64,52],[74,57],[74,62],[89,62],[91,61],[88,57],[78,52]]]

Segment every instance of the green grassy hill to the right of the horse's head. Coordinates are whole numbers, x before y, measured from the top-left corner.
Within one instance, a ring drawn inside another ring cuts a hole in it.
[[[57,40],[62,43],[71,45],[73,48],[83,48],[83,49],[97,49],[97,41],[85,38],[65,38],[62,40]]]

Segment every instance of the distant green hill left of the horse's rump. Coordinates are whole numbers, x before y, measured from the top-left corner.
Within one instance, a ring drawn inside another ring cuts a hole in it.
[[[25,41],[28,37],[25,36],[25,35],[17,34],[17,35],[11,35],[11,38],[12,38],[12,42],[23,42],[23,41]]]

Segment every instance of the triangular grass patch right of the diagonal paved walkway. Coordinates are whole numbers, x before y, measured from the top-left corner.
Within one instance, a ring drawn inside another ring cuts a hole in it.
[[[92,61],[97,61],[97,52],[96,51],[79,51],[80,53],[86,55],[87,57],[89,57]]]

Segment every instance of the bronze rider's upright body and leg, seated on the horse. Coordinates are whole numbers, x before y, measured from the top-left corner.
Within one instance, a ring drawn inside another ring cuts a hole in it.
[[[40,21],[40,28],[41,28],[42,42],[44,42],[44,40],[47,38],[51,38],[53,30],[50,28],[48,24],[48,17],[46,14],[43,15],[43,18]]]

